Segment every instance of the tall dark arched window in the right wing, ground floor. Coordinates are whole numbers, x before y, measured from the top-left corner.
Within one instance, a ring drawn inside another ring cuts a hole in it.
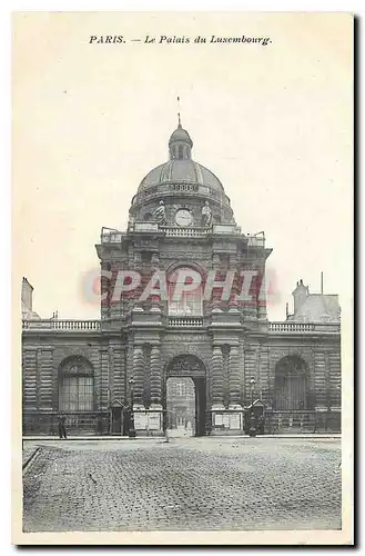
[[[275,409],[308,409],[307,367],[297,356],[283,357],[275,367]]]

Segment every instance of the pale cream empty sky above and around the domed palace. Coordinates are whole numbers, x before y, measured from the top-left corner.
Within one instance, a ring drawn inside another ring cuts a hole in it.
[[[13,281],[44,318],[98,318],[83,290],[103,226],[125,229],[168,160],[181,98],[193,159],[242,231],[273,248],[271,320],[311,292],[353,298],[352,19],[342,13],[23,13],[14,19]],[[90,36],[125,43],[89,43]],[[190,38],[159,43],[160,36]],[[270,37],[210,43],[215,37]],[[155,43],[145,43],[145,37]],[[206,43],[194,43],[195,37]],[[131,39],[141,39],[132,42]]]

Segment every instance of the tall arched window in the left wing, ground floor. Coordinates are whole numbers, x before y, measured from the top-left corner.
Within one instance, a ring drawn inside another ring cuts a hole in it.
[[[92,411],[94,378],[91,364],[82,357],[63,361],[59,374],[59,408],[61,411]]]

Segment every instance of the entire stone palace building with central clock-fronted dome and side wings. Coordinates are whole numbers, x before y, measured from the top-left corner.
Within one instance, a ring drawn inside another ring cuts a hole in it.
[[[252,414],[265,433],[341,429],[337,296],[298,280],[293,314],[267,320],[272,249],[262,232],[241,231],[192,148],[179,118],[169,160],[141,181],[128,229],[102,229],[100,319],[40,318],[23,278],[23,435],[57,434],[59,414],[70,435],[125,435],[131,405],[136,436],[163,435],[168,386],[183,377],[196,435],[247,433]]]

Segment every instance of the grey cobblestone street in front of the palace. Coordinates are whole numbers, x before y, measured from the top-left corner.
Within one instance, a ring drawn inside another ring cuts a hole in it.
[[[24,532],[339,529],[336,439],[24,441]]]

